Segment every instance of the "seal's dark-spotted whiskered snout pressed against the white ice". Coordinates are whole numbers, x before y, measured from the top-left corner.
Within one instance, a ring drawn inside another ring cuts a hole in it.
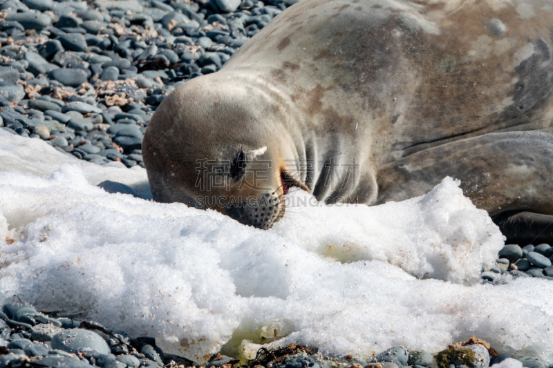
[[[284,201],[274,193],[265,193],[256,200],[229,204],[225,213],[234,220],[258,229],[267,230],[284,214]]]

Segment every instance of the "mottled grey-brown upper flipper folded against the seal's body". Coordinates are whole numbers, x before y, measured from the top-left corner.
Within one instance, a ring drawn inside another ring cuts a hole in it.
[[[381,166],[378,203],[431,191],[444,177],[492,216],[506,211],[553,215],[551,130],[489,133],[427,148]]]

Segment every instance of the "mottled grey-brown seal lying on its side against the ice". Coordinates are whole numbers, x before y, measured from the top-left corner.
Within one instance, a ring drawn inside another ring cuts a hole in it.
[[[553,223],[552,90],[552,1],[304,0],[160,104],[144,163],[154,200],[261,229],[292,186],[371,205],[448,175]]]

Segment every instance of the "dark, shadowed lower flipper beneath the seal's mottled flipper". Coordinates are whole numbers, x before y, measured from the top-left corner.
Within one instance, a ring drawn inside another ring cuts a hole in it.
[[[506,244],[553,244],[553,215],[509,211],[494,216],[494,222],[507,237]]]

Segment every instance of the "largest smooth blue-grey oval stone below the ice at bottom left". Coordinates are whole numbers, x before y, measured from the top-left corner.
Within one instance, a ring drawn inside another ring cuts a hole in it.
[[[100,354],[109,354],[106,341],[97,333],[86,329],[70,329],[55,334],[52,338],[52,349],[77,354],[79,349],[91,349]]]

